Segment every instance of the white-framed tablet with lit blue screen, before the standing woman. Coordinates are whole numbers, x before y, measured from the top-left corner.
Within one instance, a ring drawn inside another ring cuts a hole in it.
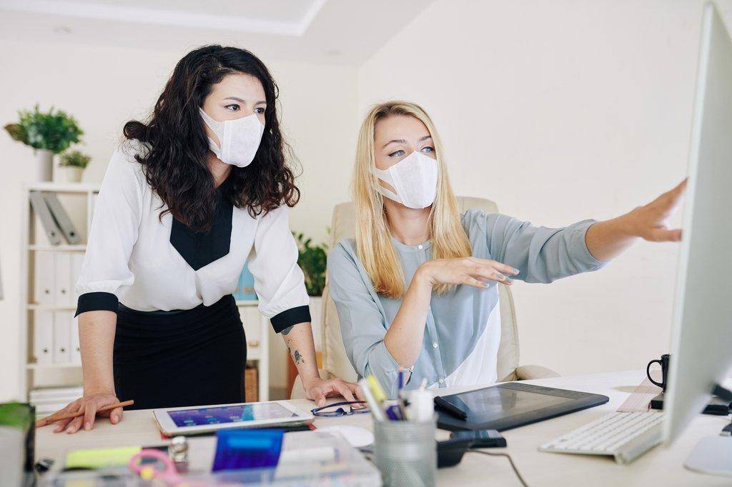
[[[297,426],[313,421],[285,401],[155,409],[160,431],[167,435],[206,433],[223,428]]]

